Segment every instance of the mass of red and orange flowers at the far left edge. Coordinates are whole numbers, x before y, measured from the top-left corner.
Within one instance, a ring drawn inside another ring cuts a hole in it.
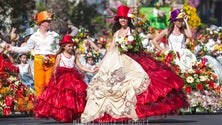
[[[34,108],[34,92],[19,80],[19,70],[0,54],[0,115],[29,112]]]

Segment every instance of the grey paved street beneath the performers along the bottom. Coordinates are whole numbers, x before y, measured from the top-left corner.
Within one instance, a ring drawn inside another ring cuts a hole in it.
[[[0,125],[81,125],[80,123],[61,123],[52,119],[36,119],[34,117],[0,117]],[[90,123],[87,125],[221,125],[222,114],[195,114],[195,115],[178,115],[167,116],[165,119],[151,117],[148,121],[139,121],[137,123],[107,123],[96,124]]]

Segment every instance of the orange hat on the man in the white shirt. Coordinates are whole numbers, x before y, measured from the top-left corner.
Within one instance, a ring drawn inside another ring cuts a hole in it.
[[[39,26],[43,21],[51,21],[52,15],[47,11],[42,11],[35,15],[35,20],[37,20],[37,25]]]

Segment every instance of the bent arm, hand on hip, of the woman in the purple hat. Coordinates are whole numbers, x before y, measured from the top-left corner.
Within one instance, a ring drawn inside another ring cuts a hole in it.
[[[160,34],[156,35],[152,40],[153,45],[160,51],[165,51],[164,48],[160,47],[160,39],[165,37],[168,32],[168,29],[163,30]]]

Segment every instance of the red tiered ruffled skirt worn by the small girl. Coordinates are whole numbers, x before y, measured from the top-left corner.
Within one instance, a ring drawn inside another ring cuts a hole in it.
[[[36,100],[35,116],[62,122],[79,120],[86,103],[86,88],[77,69],[58,67],[56,76]]]

